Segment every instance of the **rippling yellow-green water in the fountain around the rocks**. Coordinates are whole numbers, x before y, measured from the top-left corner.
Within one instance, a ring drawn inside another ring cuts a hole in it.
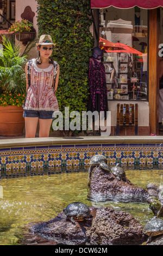
[[[134,185],[142,188],[149,183],[163,184],[163,170],[126,170],[126,175]],[[75,201],[126,211],[142,224],[152,218],[147,203],[94,203],[87,200],[87,177],[87,171],[80,171],[1,179],[0,245],[17,245],[24,225],[48,221]]]

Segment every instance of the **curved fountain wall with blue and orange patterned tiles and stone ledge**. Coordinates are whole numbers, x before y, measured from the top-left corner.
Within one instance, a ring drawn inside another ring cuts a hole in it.
[[[88,166],[95,154],[110,166],[163,165],[163,136],[15,138],[0,141],[0,171]],[[1,174],[1,172],[0,172]]]

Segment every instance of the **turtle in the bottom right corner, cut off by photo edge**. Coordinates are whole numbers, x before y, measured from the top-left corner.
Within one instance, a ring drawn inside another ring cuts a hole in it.
[[[151,241],[152,236],[163,234],[163,220],[161,218],[153,217],[143,227],[143,233],[148,235],[148,239],[143,245],[147,245]]]

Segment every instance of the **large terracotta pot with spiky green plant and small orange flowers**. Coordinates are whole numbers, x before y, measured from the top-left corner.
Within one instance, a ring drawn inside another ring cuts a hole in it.
[[[0,50],[0,136],[20,136],[24,128],[23,101],[27,56],[20,56],[18,44],[3,37]]]

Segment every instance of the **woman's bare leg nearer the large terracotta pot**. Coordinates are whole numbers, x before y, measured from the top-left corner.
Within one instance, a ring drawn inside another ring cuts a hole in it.
[[[39,118],[25,117],[24,119],[26,127],[26,138],[35,138]]]

